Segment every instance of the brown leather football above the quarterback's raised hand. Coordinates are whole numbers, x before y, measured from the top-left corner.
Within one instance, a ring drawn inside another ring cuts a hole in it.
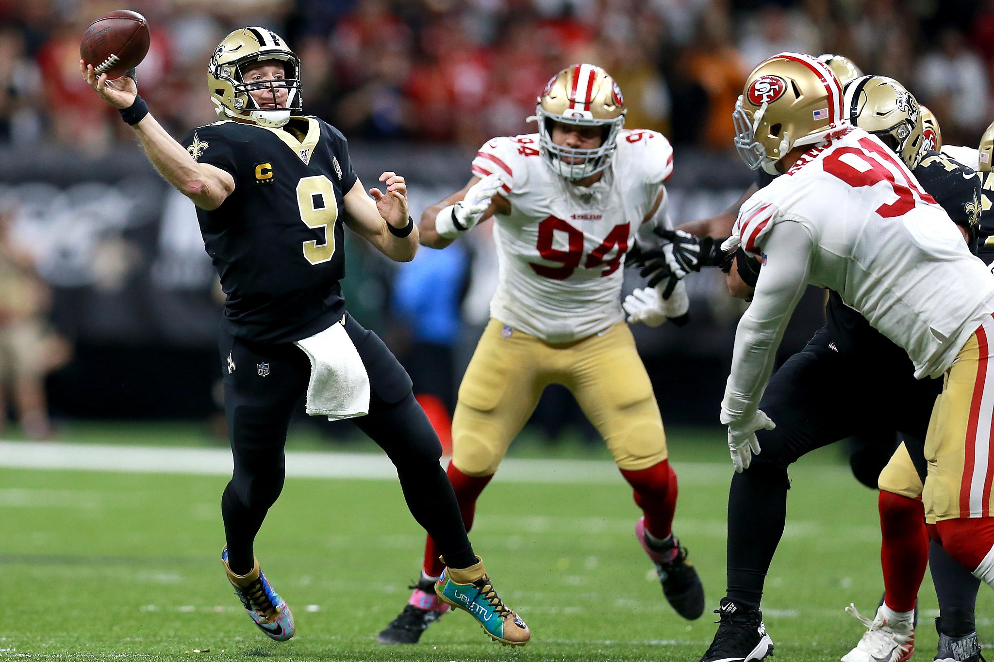
[[[117,9],[93,21],[83,33],[80,57],[96,74],[117,78],[148,53],[148,22],[137,12]]]

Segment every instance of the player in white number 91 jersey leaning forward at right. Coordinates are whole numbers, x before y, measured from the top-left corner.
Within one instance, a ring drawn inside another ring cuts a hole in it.
[[[955,476],[964,473],[964,441],[973,449],[989,445],[989,429],[971,431],[967,421],[970,400],[984,398],[974,385],[986,367],[994,279],[907,167],[877,138],[849,126],[838,81],[814,59],[781,54],[756,67],[736,119],[746,163],[786,174],[745,203],[730,242],[764,260],[753,305],[740,323],[722,407],[737,471],[758,451],[755,431],[775,425],[757,402],[779,333],[806,284],[827,287],[909,353],[916,377],[935,377],[951,366],[947,383],[962,384],[947,386],[936,404],[925,446],[924,501],[946,551],[989,579],[981,561],[994,542],[990,520],[980,519],[982,508],[978,520],[966,519],[969,510],[957,507]],[[969,471],[979,474],[982,490],[983,469]],[[758,610],[728,611],[715,643],[734,634],[742,646],[738,656],[723,659],[761,658],[768,637]],[[754,648],[747,645],[750,627]]]

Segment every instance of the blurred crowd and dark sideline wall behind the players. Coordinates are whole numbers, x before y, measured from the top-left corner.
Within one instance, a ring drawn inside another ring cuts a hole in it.
[[[748,185],[731,110],[752,66],[781,51],[837,53],[898,78],[947,144],[975,145],[994,118],[994,0],[0,0],[0,403],[28,415],[32,436],[52,434],[38,414],[46,395],[63,417],[218,407],[217,279],[192,204],[155,176],[78,68],[86,26],[121,8],[150,23],[138,86],[174,136],[216,119],[205,73],[218,42],[265,26],[301,57],[305,111],[346,134],[361,177],[409,176],[415,218],[465,183],[480,144],[532,131],[537,94],[575,62],[617,79],[628,127],[673,142],[677,223],[727,208]],[[471,237],[401,268],[347,247],[350,310],[437,382],[441,408],[496,277],[488,233]],[[691,327],[637,338],[664,418],[713,424],[742,308],[720,274],[688,285]],[[784,352],[821,324],[822,295],[808,299]],[[534,422],[556,437],[577,420],[553,390]]]

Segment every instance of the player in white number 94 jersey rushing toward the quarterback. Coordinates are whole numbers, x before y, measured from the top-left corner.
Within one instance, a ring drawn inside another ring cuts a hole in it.
[[[421,215],[421,243],[434,248],[496,215],[500,283],[459,388],[448,476],[468,529],[542,391],[567,386],[634,488],[643,512],[636,536],[664,594],[698,618],[704,591],[671,531],[676,474],[620,301],[636,233],[648,241],[668,223],[663,182],[673,153],[656,132],[624,130],[624,112],[621,90],[600,67],[560,71],[538,99],[538,133],[487,142],[466,187]],[[630,322],[658,325],[685,314],[687,296],[682,285],[666,301],[639,290],[625,309]],[[428,591],[441,572],[436,542],[428,538],[421,580],[380,641],[414,643],[444,610]]]

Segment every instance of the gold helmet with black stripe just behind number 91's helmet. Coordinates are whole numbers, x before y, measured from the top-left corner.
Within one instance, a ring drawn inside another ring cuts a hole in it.
[[[849,121],[872,133],[914,170],[924,155],[920,112],[914,95],[894,78],[865,75],[845,87]]]

